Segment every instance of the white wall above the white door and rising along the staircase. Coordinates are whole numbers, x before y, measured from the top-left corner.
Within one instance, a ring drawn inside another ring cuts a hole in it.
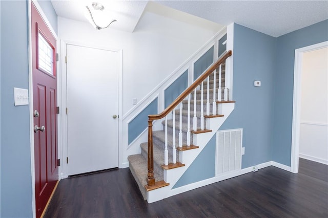
[[[123,115],[133,107],[133,98],[144,98],[222,27],[155,3],[148,4],[133,33],[99,31],[88,23],[58,17],[60,39],[122,49]]]

